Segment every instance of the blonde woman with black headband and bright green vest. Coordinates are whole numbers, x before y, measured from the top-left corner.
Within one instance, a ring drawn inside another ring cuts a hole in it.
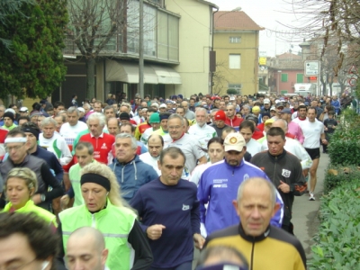
[[[66,253],[67,239],[78,228],[91,226],[105,238],[110,269],[148,269],[152,253],[136,215],[125,206],[120,187],[112,170],[101,163],[91,163],[81,170],[81,193],[84,205],[59,213],[58,232],[62,237],[62,252]]]

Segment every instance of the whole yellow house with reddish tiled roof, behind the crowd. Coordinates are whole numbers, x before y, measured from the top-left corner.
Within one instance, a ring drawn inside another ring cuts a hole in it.
[[[216,72],[212,92],[238,94],[258,92],[259,31],[264,30],[242,11],[214,14],[213,46],[216,51]]]

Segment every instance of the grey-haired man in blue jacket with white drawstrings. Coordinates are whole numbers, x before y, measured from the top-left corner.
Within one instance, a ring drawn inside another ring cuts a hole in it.
[[[152,166],[142,162],[136,150],[136,139],[127,133],[115,137],[116,158],[110,165],[121,187],[124,200],[130,202],[143,184],[157,178],[157,172]]]

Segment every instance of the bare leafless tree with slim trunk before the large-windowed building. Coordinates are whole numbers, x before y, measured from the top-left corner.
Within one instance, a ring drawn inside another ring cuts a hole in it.
[[[121,33],[127,28],[128,1],[67,0],[67,3],[67,39],[76,44],[85,58],[86,96],[91,98],[94,97],[96,58],[106,50],[110,40],[121,40]]]

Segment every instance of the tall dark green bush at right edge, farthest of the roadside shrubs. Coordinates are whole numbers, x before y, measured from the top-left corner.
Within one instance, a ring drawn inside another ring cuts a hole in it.
[[[329,143],[330,163],[360,164],[360,117],[351,109],[343,112]]]

